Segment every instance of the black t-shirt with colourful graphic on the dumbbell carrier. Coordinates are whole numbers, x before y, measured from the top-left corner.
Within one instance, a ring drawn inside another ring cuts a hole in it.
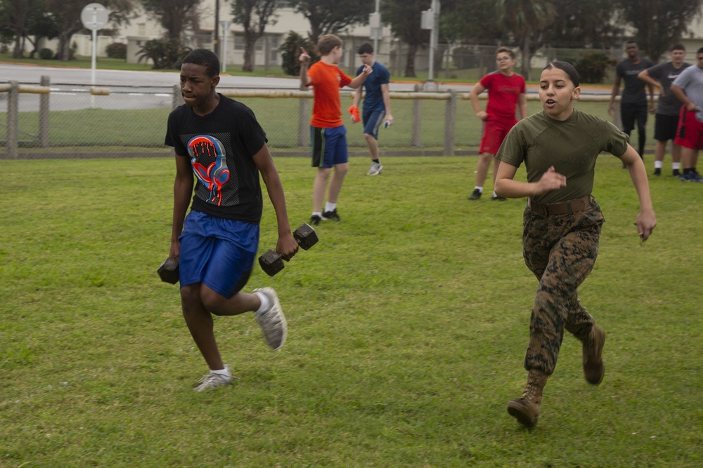
[[[169,114],[165,145],[191,160],[197,178],[192,210],[259,224],[262,189],[252,157],[266,143],[266,133],[249,107],[219,98],[206,116],[187,105],[176,107]]]

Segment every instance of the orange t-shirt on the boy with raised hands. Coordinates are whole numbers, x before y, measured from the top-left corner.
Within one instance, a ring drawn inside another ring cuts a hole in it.
[[[337,65],[315,62],[308,70],[312,92],[315,96],[310,125],[319,128],[338,127],[342,121],[342,101],[340,88],[344,88],[352,79],[345,75]]]

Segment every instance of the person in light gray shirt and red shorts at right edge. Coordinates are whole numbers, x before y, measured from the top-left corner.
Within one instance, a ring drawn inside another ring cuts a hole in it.
[[[698,151],[703,149],[703,47],[696,52],[696,66],[683,70],[673,80],[671,93],[685,106],[673,141],[682,147],[681,182],[703,182],[696,171]]]

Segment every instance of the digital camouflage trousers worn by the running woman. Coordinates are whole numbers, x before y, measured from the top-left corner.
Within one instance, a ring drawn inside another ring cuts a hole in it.
[[[565,215],[525,208],[522,253],[539,280],[524,359],[527,370],[554,372],[565,328],[579,340],[591,333],[594,320],[581,306],[577,288],[595,264],[603,222],[595,200],[586,210]]]

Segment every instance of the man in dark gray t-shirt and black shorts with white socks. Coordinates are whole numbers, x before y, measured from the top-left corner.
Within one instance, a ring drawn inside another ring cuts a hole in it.
[[[678,115],[681,114],[681,101],[670,91],[671,83],[684,69],[691,66],[684,62],[686,49],[682,44],[671,47],[671,62],[660,63],[638,74],[638,78],[659,88],[659,105],[654,116],[654,175],[662,175],[666,142],[671,140],[671,175],[681,177],[681,147],[673,140],[678,128]]]

